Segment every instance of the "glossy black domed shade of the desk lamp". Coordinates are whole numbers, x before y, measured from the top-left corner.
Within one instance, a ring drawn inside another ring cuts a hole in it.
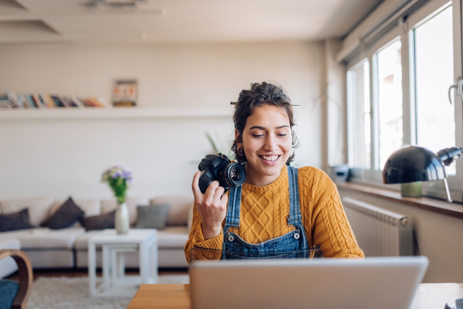
[[[388,157],[382,170],[385,184],[445,179],[445,168],[438,154],[418,146],[406,146]]]

